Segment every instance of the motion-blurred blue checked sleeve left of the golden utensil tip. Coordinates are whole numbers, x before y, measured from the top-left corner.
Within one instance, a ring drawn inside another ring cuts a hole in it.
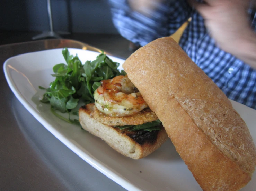
[[[129,41],[144,46],[160,37],[174,33],[180,23],[189,18],[189,10],[185,0],[169,0],[158,4],[150,17],[133,11],[127,0],[109,0],[114,26]],[[186,11],[184,11],[184,9]]]

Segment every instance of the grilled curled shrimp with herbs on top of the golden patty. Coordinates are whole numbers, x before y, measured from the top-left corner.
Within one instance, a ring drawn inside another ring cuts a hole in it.
[[[109,116],[132,115],[148,107],[127,75],[102,80],[94,99],[97,109]]]

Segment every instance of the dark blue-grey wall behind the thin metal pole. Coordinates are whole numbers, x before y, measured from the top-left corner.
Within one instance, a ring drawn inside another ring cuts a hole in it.
[[[117,34],[107,0],[51,0],[54,31]],[[0,29],[49,30],[46,0],[1,0]]]

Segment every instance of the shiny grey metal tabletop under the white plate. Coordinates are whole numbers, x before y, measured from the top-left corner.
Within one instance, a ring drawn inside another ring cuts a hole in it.
[[[64,39],[0,46],[0,63],[12,56],[54,48],[99,51]],[[0,71],[0,190],[125,190],[66,147],[39,123],[9,88]]]

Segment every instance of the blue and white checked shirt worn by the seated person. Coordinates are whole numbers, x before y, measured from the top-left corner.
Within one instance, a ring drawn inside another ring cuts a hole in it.
[[[124,38],[141,46],[170,36],[191,17],[180,46],[228,98],[256,109],[256,70],[221,50],[209,36],[202,16],[189,7],[186,0],[165,1],[158,5],[150,18],[132,11],[127,0],[109,2],[117,30]],[[250,8],[248,14],[251,27],[256,31],[255,9]]]

